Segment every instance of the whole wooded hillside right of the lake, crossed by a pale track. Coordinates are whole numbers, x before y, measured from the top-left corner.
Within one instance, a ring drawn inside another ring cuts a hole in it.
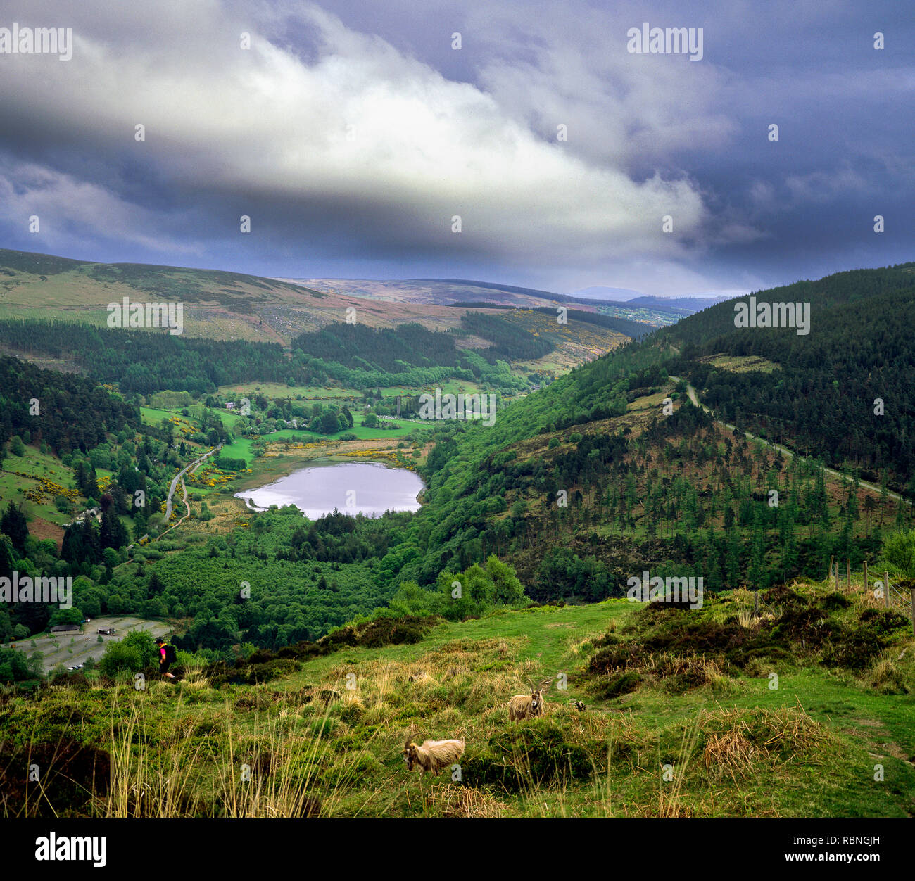
[[[639,561],[720,588],[814,576],[833,554],[872,557],[883,530],[905,525],[910,510],[824,467],[872,479],[882,463],[900,487],[910,476],[915,410],[903,389],[915,381],[904,329],[915,319],[913,277],[906,267],[863,271],[758,295],[809,297],[809,337],[741,333],[732,303],[713,306],[512,404],[492,428],[439,432],[424,509],[384,568],[431,584],[443,569],[498,553],[531,596],[597,599],[619,591]],[[722,352],[732,369],[710,360]],[[750,355],[772,369],[735,369]],[[811,458],[732,436],[686,401],[674,374],[719,418]],[[665,395],[673,414],[662,411]],[[877,396],[897,402],[892,418],[873,414]]]

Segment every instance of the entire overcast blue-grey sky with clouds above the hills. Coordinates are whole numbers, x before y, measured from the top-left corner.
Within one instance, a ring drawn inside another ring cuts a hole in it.
[[[915,259],[908,3],[5,0],[14,22],[73,49],[0,54],[0,246],[660,295]],[[628,51],[643,22],[702,28],[702,59]]]

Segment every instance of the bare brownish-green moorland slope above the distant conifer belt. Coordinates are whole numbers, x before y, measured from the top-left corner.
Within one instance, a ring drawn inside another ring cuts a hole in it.
[[[382,296],[377,296],[372,288],[375,284],[378,283],[309,286],[242,273],[139,263],[89,263],[0,248],[0,320],[45,319],[53,314],[58,320],[103,327],[108,317],[106,306],[120,303],[127,296],[131,302],[182,303],[184,335],[188,338],[245,339],[288,346],[299,334],[346,320],[353,314],[359,324],[370,328],[394,328],[414,322],[428,330],[460,328],[466,310],[449,307],[454,299],[415,299],[408,294],[410,283],[388,283]],[[457,299],[479,297],[459,295]],[[535,306],[558,304],[560,300],[565,298],[548,294],[510,296],[511,305],[526,307],[529,315]],[[588,357],[619,345],[627,329],[635,332],[642,327],[629,328],[622,323],[616,328],[582,328],[588,336]],[[487,345],[485,341],[481,344]],[[15,354],[23,351],[13,349]],[[40,352],[26,353],[29,357],[40,356]],[[567,353],[566,359],[572,360]]]

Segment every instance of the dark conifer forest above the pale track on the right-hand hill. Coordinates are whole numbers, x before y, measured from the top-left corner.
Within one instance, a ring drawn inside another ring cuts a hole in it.
[[[915,498],[915,264],[863,269],[755,295],[811,304],[811,329],[734,327],[733,301],[651,338],[681,349],[665,366],[688,375],[728,422],[832,467],[862,470]],[[747,300],[747,297],[742,297]],[[778,369],[735,372],[709,359],[758,356]]]

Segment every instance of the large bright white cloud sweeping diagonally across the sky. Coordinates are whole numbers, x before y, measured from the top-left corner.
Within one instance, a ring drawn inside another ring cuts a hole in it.
[[[692,125],[677,124],[675,100],[664,94],[680,76],[674,70],[660,82],[655,73],[635,75],[619,99],[599,90],[590,110],[612,112],[608,129],[616,134],[606,150],[576,152],[545,142],[518,112],[523,78],[529,104],[542,99],[554,115],[576,76],[600,75],[574,68],[564,77],[567,44],[543,70],[512,73],[494,63],[484,71],[484,89],[448,81],[314,5],[296,6],[315,42],[309,62],[213,0],[125,7],[114,22],[110,8],[88,3],[73,13],[70,62],[5,64],[0,101],[7,113],[31,113],[39,126],[66,132],[77,150],[135,156],[166,185],[206,198],[234,194],[241,210],[245,199],[259,198],[334,213],[351,205],[354,247],[382,236],[404,249],[509,259],[535,253],[572,264],[633,253],[673,258],[684,250],[682,236],[701,237],[707,216],[690,181],[657,174],[635,180],[627,171],[640,146],[727,129],[701,114]],[[273,27],[276,15],[264,18],[264,27]],[[239,47],[244,30],[253,36],[248,51]],[[588,131],[576,121],[588,112],[586,103],[568,105],[574,137],[599,142],[599,126]],[[144,143],[134,141],[136,123],[145,125]],[[48,199],[82,198],[72,187],[45,192]],[[62,202],[60,211],[62,218],[73,213]],[[361,213],[385,228],[359,229]],[[460,236],[450,231],[456,214]],[[661,232],[666,214],[673,234]],[[148,214],[145,220],[155,224]],[[157,241],[163,233],[149,235]]]

